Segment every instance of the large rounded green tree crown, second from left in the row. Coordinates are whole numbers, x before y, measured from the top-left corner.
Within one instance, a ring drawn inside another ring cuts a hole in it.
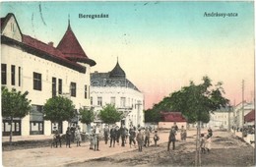
[[[58,125],[62,121],[68,121],[76,116],[75,106],[67,97],[54,96],[49,98],[43,106],[44,119],[51,122],[57,122]]]

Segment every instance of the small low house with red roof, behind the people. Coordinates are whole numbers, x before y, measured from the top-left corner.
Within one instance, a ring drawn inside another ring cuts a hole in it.
[[[159,129],[170,129],[174,123],[178,126],[178,129],[181,126],[184,126],[184,129],[187,128],[187,121],[182,116],[181,112],[160,112],[161,121],[159,122]]]

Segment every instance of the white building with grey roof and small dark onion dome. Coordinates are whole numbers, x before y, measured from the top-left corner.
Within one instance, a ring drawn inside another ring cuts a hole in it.
[[[128,79],[118,61],[108,73],[91,74],[91,105],[96,115],[106,104],[113,104],[124,115],[120,124],[144,126],[144,94]],[[97,122],[100,119],[97,117]]]

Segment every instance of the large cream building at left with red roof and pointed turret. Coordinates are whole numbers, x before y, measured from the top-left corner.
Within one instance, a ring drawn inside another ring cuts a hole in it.
[[[29,91],[32,111],[25,118],[15,118],[15,136],[51,135],[53,127],[65,133],[68,122],[56,125],[43,120],[43,105],[57,95],[70,98],[76,108],[91,107],[90,70],[96,62],[90,59],[70,23],[57,47],[22,33],[14,14],[1,18],[1,84],[9,89]],[[72,122],[79,123],[78,117]],[[8,118],[2,119],[3,136],[10,134]]]

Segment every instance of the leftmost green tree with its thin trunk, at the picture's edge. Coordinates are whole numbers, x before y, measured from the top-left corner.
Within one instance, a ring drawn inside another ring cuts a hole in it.
[[[22,93],[15,88],[9,91],[7,87],[2,86],[2,116],[10,118],[10,144],[13,136],[13,119],[25,117],[32,109],[31,100],[27,98],[28,94],[28,91]]]

